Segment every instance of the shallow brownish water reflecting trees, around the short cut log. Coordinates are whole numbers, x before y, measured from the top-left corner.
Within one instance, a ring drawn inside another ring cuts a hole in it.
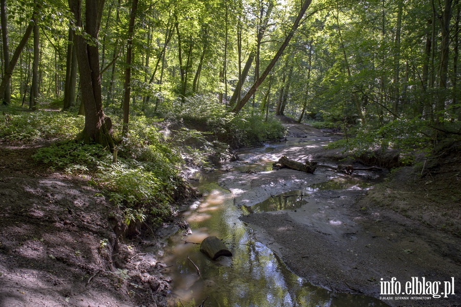
[[[267,170],[264,163],[244,167],[259,168]],[[218,185],[220,176],[222,172],[217,171],[198,175],[195,186],[203,197],[182,213],[192,234],[180,230],[164,249],[162,262],[172,265],[163,272],[173,280],[170,306],[197,306],[203,301],[204,306],[213,307],[386,306],[378,299],[334,293],[296,276],[266,245],[255,241],[253,230],[239,219],[248,212],[299,208],[309,193],[318,190],[362,189],[369,183],[333,178],[305,190],[273,195],[252,207],[238,208],[233,194]],[[233,257],[214,261],[201,253],[200,245],[195,243],[211,235],[222,239]]]

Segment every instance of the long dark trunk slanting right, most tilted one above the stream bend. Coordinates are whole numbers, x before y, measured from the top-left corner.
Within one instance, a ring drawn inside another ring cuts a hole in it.
[[[288,46],[291,38],[293,35],[295,35],[296,30],[299,27],[299,24],[301,22],[301,18],[304,16],[304,13],[306,12],[307,8],[309,7],[311,3],[311,0],[304,0],[301,9],[298,13],[298,16],[294,22],[294,24],[291,26],[291,30],[288,32],[287,36],[285,37],[284,42],[280,46],[279,50],[277,53],[274,55],[273,59],[270,61],[269,65],[266,67],[264,72],[262,73],[261,77],[255,81],[253,86],[248,90],[248,92],[245,94],[245,96],[242,98],[239,104],[237,104],[234,109],[232,110],[233,112],[239,112],[243,106],[248,102],[249,98],[253,96],[253,94],[256,92],[258,87],[263,83],[264,79],[267,77],[267,75],[270,73],[270,71],[274,68],[275,64],[279,60],[280,56],[283,54],[283,51],[285,48]]]

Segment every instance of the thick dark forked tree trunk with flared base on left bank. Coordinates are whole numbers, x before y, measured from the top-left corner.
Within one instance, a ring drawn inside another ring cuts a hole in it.
[[[74,14],[76,26],[82,26],[81,0],[69,0],[69,7]],[[97,39],[103,0],[87,0],[85,5],[85,32],[92,39]],[[112,138],[111,119],[104,114],[101,97],[101,77],[99,72],[98,47],[87,44],[87,40],[80,35],[75,37],[78,69],[80,72],[81,99],[85,107],[85,128],[81,138],[86,143],[96,142],[109,148],[115,147]]]

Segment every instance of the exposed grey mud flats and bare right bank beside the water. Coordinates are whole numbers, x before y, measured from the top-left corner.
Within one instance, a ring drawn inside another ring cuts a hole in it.
[[[344,158],[338,151],[322,148],[332,138],[321,131],[297,124],[288,124],[288,128],[287,146],[276,144],[256,153],[243,152],[239,154],[241,161],[224,167],[244,167],[246,163],[259,161],[264,169],[270,160],[276,161],[282,155],[299,161],[310,158],[331,164]],[[408,169],[404,168],[403,172]],[[453,174],[445,175],[447,181],[442,185],[448,183],[451,187],[450,181],[456,178],[450,176],[456,176],[456,168]],[[229,172],[220,184],[234,193],[237,206],[252,206],[271,195],[302,190],[333,176],[338,175],[322,169],[315,174],[288,169],[237,175]],[[371,172],[362,172],[356,177],[372,181],[373,176]],[[397,177],[392,189],[390,183],[385,182],[369,191],[359,186],[313,191],[299,209],[249,214],[241,219],[256,230],[258,241],[273,249],[291,270],[313,284],[334,292],[386,297],[383,300],[392,306],[459,306],[461,239],[459,234],[452,234],[459,225],[459,189],[449,189],[452,203],[448,206],[431,202],[441,197],[438,194],[426,197],[427,203],[422,203],[419,201],[422,197],[415,196],[423,193],[417,189],[421,184],[410,186],[408,176]],[[406,190],[409,187],[411,191]],[[405,191],[413,196],[399,198]],[[407,211],[399,210],[396,203]],[[414,213],[405,214],[411,211]],[[426,219],[417,218],[425,213]],[[452,233],[447,232],[447,228],[442,229],[442,224],[433,222],[440,221],[438,218],[443,216],[445,224],[451,225]],[[441,281],[439,294],[444,292],[444,282],[451,282],[454,277],[455,294],[448,298],[410,295],[425,297],[418,300],[410,300],[410,296],[402,294],[381,295],[381,278],[390,281],[392,277],[401,282],[401,292],[406,291],[406,282],[412,277],[420,281],[423,277],[430,282]]]

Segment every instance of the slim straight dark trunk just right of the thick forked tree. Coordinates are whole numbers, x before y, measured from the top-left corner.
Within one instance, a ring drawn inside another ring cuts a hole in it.
[[[133,55],[133,32],[134,23],[136,17],[136,11],[138,9],[138,0],[133,0],[133,6],[131,8],[130,22],[128,24],[128,46],[127,46],[127,68],[125,68],[125,84],[124,84],[124,95],[123,95],[123,128],[122,135],[128,134],[128,121],[130,116],[130,92],[131,92],[131,61]]]

